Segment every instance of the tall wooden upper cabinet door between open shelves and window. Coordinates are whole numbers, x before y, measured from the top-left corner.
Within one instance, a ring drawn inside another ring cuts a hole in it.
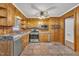
[[[13,26],[15,22],[15,7],[12,4],[8,4],[7,8],[7,25]]]

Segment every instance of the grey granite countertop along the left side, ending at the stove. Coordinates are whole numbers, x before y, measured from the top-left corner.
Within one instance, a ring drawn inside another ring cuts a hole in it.
[[[7,35],[0,35],[0,40],[14,40],[20,39],[23,35],[28,35],[30,31],[27,32],[20,32],[16,34],[7,34]]]

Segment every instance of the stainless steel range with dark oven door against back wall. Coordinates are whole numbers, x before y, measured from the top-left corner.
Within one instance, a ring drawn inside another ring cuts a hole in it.
[[[29,34],[29,42],[39,42],[39,31],[36,31],[36,29],[32,29],[32,32]]]

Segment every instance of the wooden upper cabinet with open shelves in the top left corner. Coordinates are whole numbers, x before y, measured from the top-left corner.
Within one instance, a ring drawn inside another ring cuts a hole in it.
[[[0,25],[13,26],[16,8],[10,3],[0,3]]]

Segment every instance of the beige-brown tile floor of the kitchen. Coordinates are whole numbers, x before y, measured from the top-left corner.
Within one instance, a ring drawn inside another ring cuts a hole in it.
[[[21,56],[77,56],[70,48],[60,43],[30,43]]]

